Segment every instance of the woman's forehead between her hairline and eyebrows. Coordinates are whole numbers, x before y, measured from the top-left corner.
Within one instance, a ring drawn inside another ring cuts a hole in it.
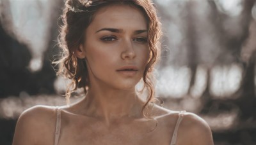
[[[94,28],[147,29],[147,20],[138,8],[115,4],[100,8],[95,13],[90,26]]]

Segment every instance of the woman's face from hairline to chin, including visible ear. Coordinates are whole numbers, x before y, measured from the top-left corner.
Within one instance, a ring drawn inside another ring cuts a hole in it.
[[[133,89],[149,59],[147,21],[140,10],[107,6],[95,14],[76,54],[86,59],[90,86]]]

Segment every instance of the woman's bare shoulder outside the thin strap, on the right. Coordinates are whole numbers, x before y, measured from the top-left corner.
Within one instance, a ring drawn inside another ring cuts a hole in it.
[[[213,144],[212,132],[208,123],[194,113],[184,113],[179,134],[178,140],[182,140],[182,144]]]

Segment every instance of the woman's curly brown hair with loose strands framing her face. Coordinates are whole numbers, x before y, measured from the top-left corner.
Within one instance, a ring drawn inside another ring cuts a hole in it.
[[[95,13],[102,7],[111,4],[125,4],[138,8],[145,16],[148,23],[148,47],[150,49],[150,59],[143,73],[144,87],[146,88],[148,97],[143,105],[141,112],[144,114],[144,109],[149,102],[154,100],[154,77],[152,71],[154,65],[159,59],[161,38],[161,23],[157,18],[156,8],[150,0],[94,0],[90,6],[87,6],[85,0],[67,0],[61,19],[63,25],[58,39],[61,48],[61,59],[54,62],[59,64],[57,74],[69,78],[72,83],[68,86],[66,92],[67,103],[72,92],[77,88],[83,88],[84,93],[87,93],[89,87],[88,70],[84,60],[78,59],[74,52],[84,41],[84,31],[91,24]]]

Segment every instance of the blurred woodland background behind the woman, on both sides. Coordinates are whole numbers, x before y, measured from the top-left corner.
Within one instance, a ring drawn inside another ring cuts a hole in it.
[[[217,145],[256,144],[255,1],[154,1],[164,31],[157,96],[202,116]],[[51,66],[61,8],[63,0],[0,0],[0,144],[12,144],[24,109],[65,104],[68,81]]]

